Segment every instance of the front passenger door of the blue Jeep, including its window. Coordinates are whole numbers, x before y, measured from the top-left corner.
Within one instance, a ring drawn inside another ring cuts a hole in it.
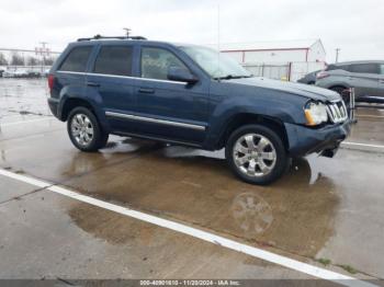
[[[135,94],[137,131],[150,137],[200,145],[207,127],[208,84],[169,81],[170,67],[187,68],[171,50],[142,47]]]

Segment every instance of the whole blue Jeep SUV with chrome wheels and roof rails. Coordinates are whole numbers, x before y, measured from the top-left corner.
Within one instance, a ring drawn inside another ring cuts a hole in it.
[[[49,107],[82,151],[109,135],[218,150],[241,180],[268,184],[290,158],[332,157],[349,134],[332,91],[252,77],[213,49],[129,38],[68,45],[48,77]]]

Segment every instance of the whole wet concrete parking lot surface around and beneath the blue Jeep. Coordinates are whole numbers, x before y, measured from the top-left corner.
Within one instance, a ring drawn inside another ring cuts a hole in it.
[[[223,151],[111,137],[99,153],[82,153],[65,124],[47,116],[45,99],[45,82],[0,81],[0,278],[321,278],[281,264],[290,259],[383,285],[380,110],[358,111],[336,158],[295,160],[260,187],[235,179]],[[280,257],[212,244],[188,227]]]

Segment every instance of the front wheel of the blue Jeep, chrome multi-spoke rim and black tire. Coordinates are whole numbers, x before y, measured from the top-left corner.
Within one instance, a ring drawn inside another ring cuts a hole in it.
[[[235,175],[258,185],[276,181],[290,162],[281,137],[262,125],[236,129],[227,140],[225,157]]]

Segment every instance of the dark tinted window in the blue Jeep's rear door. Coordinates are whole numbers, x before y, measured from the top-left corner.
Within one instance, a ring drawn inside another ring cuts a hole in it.
[[[132,76],[132,47],[102,47],[93,71],[97,73]]]

